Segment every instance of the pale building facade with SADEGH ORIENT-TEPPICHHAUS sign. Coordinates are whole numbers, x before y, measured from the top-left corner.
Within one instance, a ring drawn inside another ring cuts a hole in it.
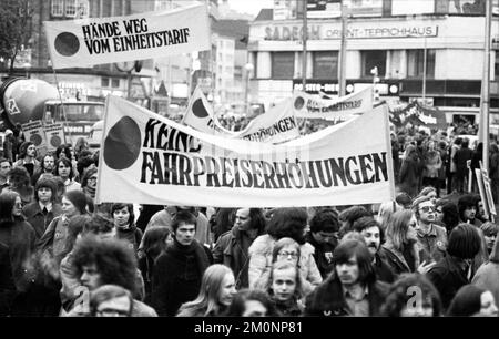
[[[249,62],[255,68],[252,92],[266,106],[289,96],[294,89],[302,90],[303,20],[296,10],[284,11],[282,2],[277,17],[272,10],[263,11],[249,29]],[[350,8],[346,25],[347,93],[371,84],[377,68],[379,83],[376,88],[388,102],[425,96],[428,103],[439,107],[480,105],[485,7],[472,11],[461,3],[457,12],[456,1],[379,0],[364,1],[370,6],[366,11],[366,7],[359,6],[363,1],[352,2],[358,6],[358,11],[356,7]],[[464,8],[468,12],[462,12]],[[305,90],[335,95],[338,93],[342,20],[340,12],[334,11],[334,7],[329,9],[330,18],[322,18],[314,11],[307,16]],[[493,16],[493,41],[499,38],[498,23],[499,18]],[[492,109],[498,107],[498,64],[493,43]]]

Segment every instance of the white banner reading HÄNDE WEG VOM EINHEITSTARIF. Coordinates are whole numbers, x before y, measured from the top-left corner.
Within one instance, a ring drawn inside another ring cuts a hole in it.
[[[152,59],[211,48],[206,4],[167,12],[43,22],[54,69]]]

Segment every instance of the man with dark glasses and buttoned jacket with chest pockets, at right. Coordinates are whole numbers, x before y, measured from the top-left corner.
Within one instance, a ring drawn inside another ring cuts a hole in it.
[[[420,196],[413,202],[413,212],[417,220],[416,233],[421,263],[439,261],[446,254],[447,230],[436,224],[434,202],[428,196]]]

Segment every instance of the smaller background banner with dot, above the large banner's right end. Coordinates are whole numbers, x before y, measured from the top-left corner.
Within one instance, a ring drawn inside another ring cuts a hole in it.
[[[296,116],[306,119],[348,120],[373,109],[373,86],[337,99],[322,99],[302,91],[293,92]]]

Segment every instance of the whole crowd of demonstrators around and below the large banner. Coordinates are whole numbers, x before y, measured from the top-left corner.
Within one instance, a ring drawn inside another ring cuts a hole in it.
[[[460,172],[480,147],[393,141],[406,145],[395,201],[139,215],[95,204],[84,140],[40,156],[21,143],[0,158],[0,315],[497,316],[499,226]]]

